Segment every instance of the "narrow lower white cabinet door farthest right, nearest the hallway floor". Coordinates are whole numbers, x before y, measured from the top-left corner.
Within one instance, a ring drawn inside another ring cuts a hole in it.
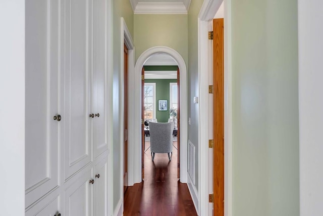
[[[94,168],[94,175],[99,175],[95,178],[94,183],[94,215],[106,216],[109,212],[107,202],[107,157],[103,158]]]

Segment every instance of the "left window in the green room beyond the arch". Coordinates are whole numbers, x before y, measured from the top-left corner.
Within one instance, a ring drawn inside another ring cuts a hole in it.
[[[144,85],[144,119],[156,118],[156,83]]]

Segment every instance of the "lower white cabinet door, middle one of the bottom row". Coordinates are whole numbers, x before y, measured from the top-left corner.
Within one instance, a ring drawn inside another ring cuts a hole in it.
[[[92,215],[92,188],[89,183],[92,179],[92,170],[77,178],[65,190],[65,213],[66,216],[90,216]],[[95,181],[95,180],[94,180]],[[95,184],[95,182],[94,182]]]

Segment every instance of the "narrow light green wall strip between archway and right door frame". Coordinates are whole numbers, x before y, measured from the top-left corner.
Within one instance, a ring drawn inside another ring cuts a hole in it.
[[[203,0],[191,1],[188,12],[188,139],[195,146],[195,161],[198,160],[198,104],[193,103],[193,97],[198,96],[198,53],[197,53],[197,17]],[[206,123],[205,123],[206,124]],[[198,163],[195,163],[195,187],[198,190]],[[194,198],[194,197],[193,197]]]

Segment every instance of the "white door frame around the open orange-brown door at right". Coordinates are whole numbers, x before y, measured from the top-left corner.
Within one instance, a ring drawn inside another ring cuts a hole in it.
[[[224,1],[224,130],[225,130],[225,215],[232,215],[232,96],[231,96],[231,0],[204,0],[198,16],[199,74],[199,215],[208,215],[208,21],[212,20]],[[206,178],[205,178],[206,177]]]

